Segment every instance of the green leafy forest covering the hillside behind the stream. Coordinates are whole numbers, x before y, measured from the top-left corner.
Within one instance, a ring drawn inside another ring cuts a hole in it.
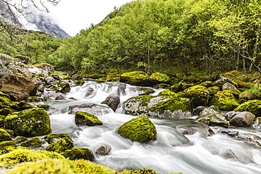
[[[68,39],[1,33],[1,53],[30,56],[32,63],[50,63],[56,70],[261,73],[258,0],[138,0]]]

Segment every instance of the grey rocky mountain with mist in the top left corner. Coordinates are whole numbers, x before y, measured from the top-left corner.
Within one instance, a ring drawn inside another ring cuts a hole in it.
[[[71,37],[42,11],[30,8],[30,11],[25,14],[25,19],[18,18],[18,13],[12,9],[11,6],[8,6],[4,1],[0,0],[0,21],[6,21],[11,25],[22,27],[25,30],[45,32],[60,39]]]

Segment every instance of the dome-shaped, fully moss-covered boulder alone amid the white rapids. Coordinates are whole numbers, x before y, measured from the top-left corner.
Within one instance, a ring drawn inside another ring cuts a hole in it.
[[[145,116],[133,118],[118,130],[119,135],[133,142],[150,142],[157,138],[157,130],[151,120]]]

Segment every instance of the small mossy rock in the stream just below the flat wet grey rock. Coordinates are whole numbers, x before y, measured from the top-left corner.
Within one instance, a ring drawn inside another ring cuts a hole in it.
[[[80,125],[87,125],[87,126],[94,126],[94,125],[103,125],[102,121],[97,118],[97,116],[92,115],[90,113],[85,112],[76,112],[75,113],[75,124]]]

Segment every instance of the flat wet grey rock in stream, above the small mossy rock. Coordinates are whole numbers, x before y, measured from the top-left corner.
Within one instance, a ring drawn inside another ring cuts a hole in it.
[[[102,116],[106,113],[109,113],[111,108],[109,106],[102,106],[98,104],[81,104],[81,105],[75,105],[75,106],[69,106],[68,109],[69,114],[75,114],[77,111],[85,112],[85,113],[91,113],[95,116]]]

